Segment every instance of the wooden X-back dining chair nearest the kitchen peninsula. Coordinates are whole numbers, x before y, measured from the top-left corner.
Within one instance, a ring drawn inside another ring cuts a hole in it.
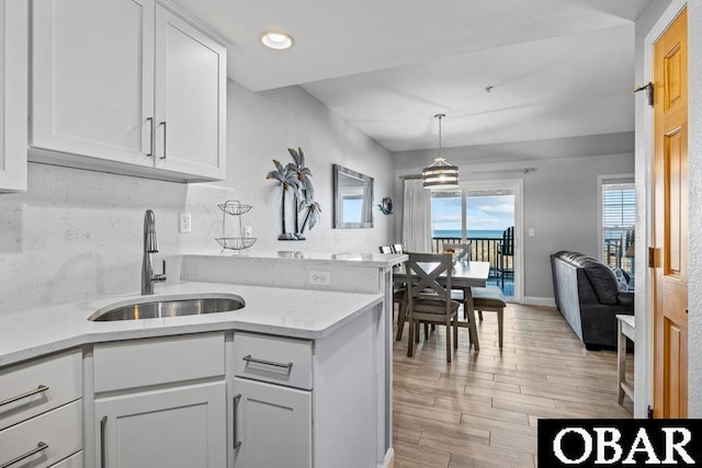
[[[443,324],[446,327],[446,362],[451,363],[453,326],[453,347],[458,347],[458,307],[451,299],[451,270],[453,261],[449,253],[412,253],[405,263],[407,269],[407,356],[411,357],[415,342],[419,342],[419,323]],[[437,281],[444,276],[445,286]]]

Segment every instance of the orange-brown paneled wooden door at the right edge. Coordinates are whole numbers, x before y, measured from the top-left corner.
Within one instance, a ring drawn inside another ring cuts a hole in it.
[[[683,10],[654,45],[654,416],[688,414],[688,36]]]

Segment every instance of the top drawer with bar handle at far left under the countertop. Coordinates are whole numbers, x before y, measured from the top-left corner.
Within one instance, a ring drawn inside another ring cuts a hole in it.
[[[80,350],[0,369],[0,430],[81,396]]]

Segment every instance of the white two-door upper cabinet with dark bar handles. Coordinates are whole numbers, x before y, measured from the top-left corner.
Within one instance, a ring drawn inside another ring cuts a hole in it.
[[[173,38],[165,21],[186,33]],[[226,176],[223,46],[152,0],[35,0],[32,37],[31,159]]]

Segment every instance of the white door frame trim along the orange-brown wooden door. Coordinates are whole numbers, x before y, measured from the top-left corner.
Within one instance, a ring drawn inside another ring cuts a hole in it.
[[[644,82],[653,81],[654,44],[668,26],[688,5],[687,0],[672,0],[650,28],[644,39]],[[638,98],[638,99],[644,99]],[[644,101],[642,101],[644,102]],[[654,244],[654,109],[644,104],[643,110],[644,153],[636,161],[636,258],[648,258],[648,246]],[[641,159],[641,162],[638,161]],[[643,168],[642,168],[643,165]],[[638,176],[641,175],[641,176]],[[638,208],[641,207],[641,209]],[[648,262],[636,262],[634,313],[636,317],[636,359],[634,361],[634,418],[647,418],[648,408],[654,404],[654,296],[655,275]]]

